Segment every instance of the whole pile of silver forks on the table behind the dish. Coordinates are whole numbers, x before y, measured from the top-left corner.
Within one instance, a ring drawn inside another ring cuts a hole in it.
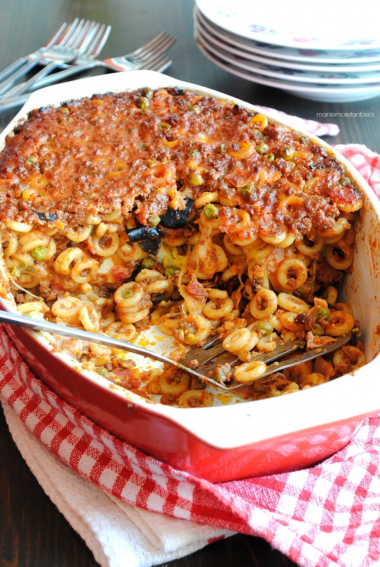
[[[105,67],[113,71],[148,69],[163,73],[172,64],[166,52],[175,38],[166,32],[131,53],[98,60],[96,57],[110,31],[111,26],[79,18],[71,24],[62,24],[40,49],[20,57],[0,72],[0,111],[22,105],[32,90],[62,81],[78,71]],[[37,64],[44,66],[28,81],[19,82]],[[52,73],[57,68],[61,70]]]

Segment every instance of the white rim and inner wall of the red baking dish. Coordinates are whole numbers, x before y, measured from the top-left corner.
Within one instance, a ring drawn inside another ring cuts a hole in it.
[[[32,108],[48,104],[59,104],[65,100],[77,99],[104,92],[135,90],[140,87],[172,87],[189,88],[204,92],[209,96],[233,100],[235,103],[264,113],[271,119],[271,114],[261,108],[231,98],[221,92],[208,90],[205,87],[177,81],[166,75],[153,71],[126,71],[100,77],[91,77],[71,81],[57,86],[47,87],[34,92],[24,104],[15,119],[7,126],[0,137],[0,148],[3,147],[6,135],[11,132],[19,120],[27,116]],[[278,122],[278,120],[276,119]],[[292,126],[292,122],[282,122]],[[300,132],[299,129],[297,129]],[[300,132],[302,133],[302,132]],[[81,371],[92,382],[121,396],[126,403],[138,405],[146,411],[157,413],[188,429],[196,437],[215,447],[229,448],[260,442],[263,439],[291,434],[293,431],[318,428],[325,424],[347,420],[355,416],[374,413],[380,409],[380,205],[364,179],[341,156],[326,143],[309,133],[303,134],[321,143],[331,155],[339,158],[351,177],[356,179],[364,194],[362,220],[357,226],[357,239],[352,274],[348,274],[342,290],[342,299],[351,304],[354,316],[361,322],[362,337],[366,346],[366,356],[370,361],[353,375],[341,376],[322,386],[310,388],[295,395],[280,396],[257,401],[240,403],[235,396],[231,403],[212,408],[180,409],[159,403],[153,404],[128,390],[116,387],[107,379],[82,369],[78,362],[66,353],[54,349],[52,356],[62,357],[66,364]],[[15,311],[14,302],[2,301],[9,311]],[[39,333],[29,331],[50,352],[52,345]],[[160,341],[158,341],[160,342]],[[167,346],[163,341],[161,347]],[[135,358],[135,360],[137,360]],[[145,359],[144,359],[145,361]],[[146,362],[146,361],[145,361]],[[144,363],[145,363],[144,362]]]

